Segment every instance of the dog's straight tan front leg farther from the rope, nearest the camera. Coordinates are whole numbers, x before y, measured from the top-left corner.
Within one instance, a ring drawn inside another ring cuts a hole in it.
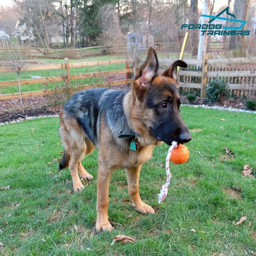
[[[97,233],[113,230],[112,225],[108,221],[108,189],[112,172],[111,170],[106,170],[99,161],[97,177]]]

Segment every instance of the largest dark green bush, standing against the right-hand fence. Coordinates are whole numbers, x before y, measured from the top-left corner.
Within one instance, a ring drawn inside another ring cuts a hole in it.
[[[209,81],[206,89],[206,98],[210,103],[222,102],[224,99],[227,99],[228,95],[228,85],[223,79],[217,80],[214,78]]]

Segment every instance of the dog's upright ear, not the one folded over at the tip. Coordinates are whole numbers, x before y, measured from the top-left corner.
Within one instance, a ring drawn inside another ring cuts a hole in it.
[[[148,56],[134,79],[134,93],[140,101],[148,92],[152,79],[157,76],[158,59],[155,50],[150,47]]]

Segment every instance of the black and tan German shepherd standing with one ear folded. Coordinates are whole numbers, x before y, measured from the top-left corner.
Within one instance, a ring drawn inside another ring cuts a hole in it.
[[[85,154],[99,151],[96,231],[112,230],[108,221],[108,189],[115,169],[125,168],[133,206],[143,214],[154,209],[139,195],[140,169],[151,158],[154,146],[187,143],[191,135],[180,117],[177,60],[157,74],[153,48],[135,77],[130,90],[95,88],[76,93],[60,112],[60,135],[64,156],[59,169],[70,166],[74,191],[83,190],[81,178],[93,178],[82,166]]]

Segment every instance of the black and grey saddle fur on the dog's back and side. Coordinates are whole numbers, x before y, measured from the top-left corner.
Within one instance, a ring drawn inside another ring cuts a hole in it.
[[[121,132],[127,130],[122,104],[125,93],[127,90],[106,88],[83,90],[71,97],[64,105],[63,112],[69,118],[76,120],[84,134],[98,147],[102,117],[105,118],[113,137],[117,138]]]

